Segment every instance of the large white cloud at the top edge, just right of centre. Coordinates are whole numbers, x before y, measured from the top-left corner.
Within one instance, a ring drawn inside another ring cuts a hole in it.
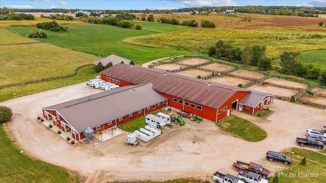
[[[175,3],[181,3],[184,7],[203,7],[203,6],[237,6],[233,0],[221,0],[221,1],[204,1],[204,0],[196,0],[196,1],[182,1],[182,0],[172,0]]]

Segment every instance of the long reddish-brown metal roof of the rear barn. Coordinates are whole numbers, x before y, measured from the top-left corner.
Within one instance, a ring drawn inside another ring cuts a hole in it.
[[[117,64],[101,71],[100,74],[137,85],[153,83],[155,91],[193,101],[214,109],[219,109],[236,92],[250,92],[239,87],[140,66],[131,67],[127,64]],[[211,83],[210,86],[208,86],[209,83]]]

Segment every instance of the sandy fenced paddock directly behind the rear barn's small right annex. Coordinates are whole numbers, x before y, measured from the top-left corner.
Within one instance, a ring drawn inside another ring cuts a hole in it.
[[[273,86],[263,86],[262,84],[256,84],[249,87],[250,90],[260,91],[264,93],[270,93],[278,96],[291,97],[292,95],[297,94],[299,91],[289,90],[285,88],[273,87]]]

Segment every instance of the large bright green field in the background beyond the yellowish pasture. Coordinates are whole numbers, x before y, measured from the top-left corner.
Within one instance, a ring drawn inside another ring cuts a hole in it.
[[[135,64],[156,60],[174,55],[196,54],[191,51],[181,51],[167,48],[144,47],[123,43],[124,38],[156,34],[152,31],[123,29],[112,25],[80,24],[62,25],[68,32],[53,33],[46,31],[48,38],[39,39],[45,42],[62,45],[77,50],[101,56],[112,54],[134,61]],[[170,25],[171,27],[173,25]],[[10,27],[23,35],[30,34],[31,27]],[[158,28],[159,29],[159,28]],[[156,29],[156,30],[158,30]],[[176,29],[178,30],[178,29]],[[198,53],[197,53],[198,54]]]

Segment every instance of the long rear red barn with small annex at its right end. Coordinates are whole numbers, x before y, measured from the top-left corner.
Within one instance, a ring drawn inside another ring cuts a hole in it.
[[[214,122],[229,116],[232,109],[257,112],[273,99],[270,94],[140,66],[117,64],[100,74],[102,80],[120,86],[152,83],[153,90],[168,98],[169,106]]]

